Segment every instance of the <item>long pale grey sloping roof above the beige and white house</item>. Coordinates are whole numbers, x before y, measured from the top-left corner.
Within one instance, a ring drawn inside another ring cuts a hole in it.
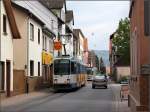
[[[52,21],[54,26],[58,26],[58,18],[56,15],[54,15],[48,8],[46,8],[44,5],[42,5],[37,0],[28,0],[28,1],[19,1],[19,0],[13,0],[13,3],[16,5],[30,11],[33,15],[35,15],[39,20],[41,20],[45,27],[51,30],[55,35],[57,35],[57,28],[52,28]]]

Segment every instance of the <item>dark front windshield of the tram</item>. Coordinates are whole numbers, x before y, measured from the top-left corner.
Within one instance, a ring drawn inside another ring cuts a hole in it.
[[[54,61],[54,75],[69,75],[70,61],[69,60],[55,60]]]

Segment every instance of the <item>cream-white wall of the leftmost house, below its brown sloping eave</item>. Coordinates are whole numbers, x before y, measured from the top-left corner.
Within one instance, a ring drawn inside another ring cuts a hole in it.
[[[0,13],[0,61],[5,62],[6,65],[6,60],[11,61],[11,91],[13,90],[13,37],[11,33],[11,29],[9,26],[7,14],[4,8],[3,1],[0,1],[1,4],[1,13]],[[7,18],[7,34],[5,35],[3,33],[3,14],[6,15]],[[6,71],[6,67],[5,67]],[[5,77],[6,77],[6,72],[5,72]],[[5,89],[6,89],[6,81],[5,81]]]

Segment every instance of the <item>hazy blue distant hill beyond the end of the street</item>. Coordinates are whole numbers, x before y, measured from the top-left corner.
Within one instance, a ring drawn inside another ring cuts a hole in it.
[[[95,54],[100,58],[103,58],[104,64],[106,66],[110,66],[109,63],[109,51],[107,50],[93,50],[95,52]]]

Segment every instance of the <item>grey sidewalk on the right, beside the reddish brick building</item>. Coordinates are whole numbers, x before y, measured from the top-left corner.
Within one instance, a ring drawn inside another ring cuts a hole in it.
[[[123,100],[121,102],[121,99],[120,99],[121,85],[111,84],[111,89],[112,89],[113,96],[114,96],[115,112],[130,112],[130,108],[128,107],[128,101]]]

